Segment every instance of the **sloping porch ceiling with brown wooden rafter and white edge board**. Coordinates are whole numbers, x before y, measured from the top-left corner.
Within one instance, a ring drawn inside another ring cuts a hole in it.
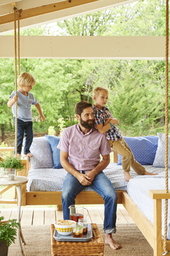
[[[139,0],[1,0],[0,35],[13,31],[13,6],[22,9],[20,29],[27,29],[136,1]]]

